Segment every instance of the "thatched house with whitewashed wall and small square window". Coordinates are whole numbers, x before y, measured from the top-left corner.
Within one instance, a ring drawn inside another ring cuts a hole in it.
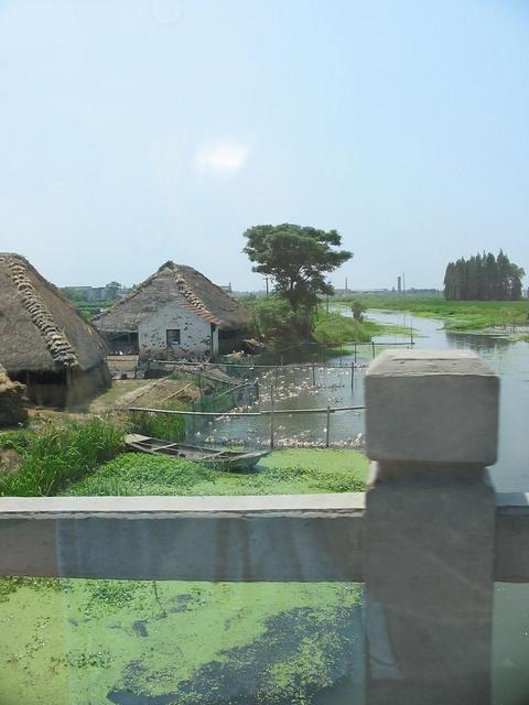
[[[205,357],[239,346],[251,314],[192,267],[165,262],[94,325],[142,359]]]

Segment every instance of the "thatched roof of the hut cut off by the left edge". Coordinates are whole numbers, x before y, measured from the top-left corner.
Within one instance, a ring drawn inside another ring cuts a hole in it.
[[[10,375],[88,370],[106,355],[101,335],[20,254],[0,253],[0,360]]]

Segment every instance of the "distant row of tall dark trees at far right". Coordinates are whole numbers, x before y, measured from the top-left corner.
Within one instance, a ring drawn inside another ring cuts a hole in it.
[[[499,250],[449,262],[444,297],[452,301],[517,301],[521,299],[525,271]]]

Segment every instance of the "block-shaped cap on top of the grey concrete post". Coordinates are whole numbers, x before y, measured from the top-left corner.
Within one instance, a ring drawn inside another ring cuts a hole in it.
[[[499,380],[471,350],[388,350],[366,373],[374,460],[492,465]]]

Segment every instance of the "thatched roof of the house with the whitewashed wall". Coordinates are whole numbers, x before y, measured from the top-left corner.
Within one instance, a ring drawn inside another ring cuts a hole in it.
[[[145,317],[171,302],[220,328],[245,328],[250,312],[192,267],[165,262],[122,301],[94,319],[104,333],[133,333]]]

